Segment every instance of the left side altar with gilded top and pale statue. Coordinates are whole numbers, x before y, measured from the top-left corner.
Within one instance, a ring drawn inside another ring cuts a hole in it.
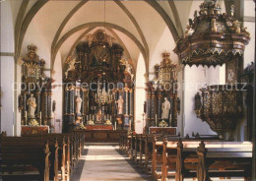
[[[51,89],[53,80],[43,74],[45,61],[36,54],[36,46],[28,46],[28,54],[19,58],[22,63],[22,91],[19,110],[22,125],[50,125]]]

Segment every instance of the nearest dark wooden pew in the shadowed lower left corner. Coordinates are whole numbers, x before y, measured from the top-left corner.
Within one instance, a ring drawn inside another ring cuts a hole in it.
[[[49,144],[40,142],[28,144],[27,142],[16,142],[12,138],[1,138],[1,169],[3,180],[40,180],[49,181],[50,156]],[[23,166],[21,170],[20,166]],[[26,172],[30,167],[33,174]],[[23,174],[21,174],[21,172]]]

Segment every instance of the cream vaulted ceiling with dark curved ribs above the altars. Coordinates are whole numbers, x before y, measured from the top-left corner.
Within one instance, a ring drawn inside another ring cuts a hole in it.
[[[10,1],[14,19],[17,17],[16,57],[26,52],[28,42],[33,43],[37,37],[43,41],[45,53],[49,54],[45,56],[50,57],[48,68],[53,68],[58,52],[65,59],[84,35],[105,27],[107,33],[125,46],[125,55],[133,59],[134,67],[142,53],[147,72],[163,31],[167,27],[176,41],[183,34],[184,22],[188,20],[189,13],[184,10],[190,10],[192,6],[190,1],[180,4],[172,0]]]

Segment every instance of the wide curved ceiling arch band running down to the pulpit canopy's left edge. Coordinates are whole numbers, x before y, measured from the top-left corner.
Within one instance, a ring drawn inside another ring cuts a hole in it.
[[[177,41],[179,39],[178,32],[175,26],[173,25],[171,19],[167,15],[167,13],[161,8],[160,4],[155,0],[144,0],[144,1],[147,2],[149,5],[151,5],[157,12],[159,12],[162,20],[165,22],[168,29],[170,30],[174,41]]]

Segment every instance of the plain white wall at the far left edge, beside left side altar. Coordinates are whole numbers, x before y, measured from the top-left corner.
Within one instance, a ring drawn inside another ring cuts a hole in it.
[[[1,53],[14,53],[14,23],[10,1],[1,2]],[[1,131],[8,136],[15,135],[14,116],[14,72],[15,61],[12,55],[1,56]]]

